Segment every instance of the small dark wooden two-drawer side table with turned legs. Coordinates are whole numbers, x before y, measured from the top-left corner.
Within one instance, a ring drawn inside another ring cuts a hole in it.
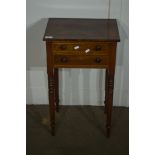
[[[117,42],[116,19],[49,18],[45,35],[51,133],[59,111],[58,68],[104,68],[107,136],[110,136]]]

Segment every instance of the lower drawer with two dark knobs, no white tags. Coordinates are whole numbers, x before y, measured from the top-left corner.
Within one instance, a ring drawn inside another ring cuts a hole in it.
[[[108,56],[54,55],[55,67],[106,67]]]

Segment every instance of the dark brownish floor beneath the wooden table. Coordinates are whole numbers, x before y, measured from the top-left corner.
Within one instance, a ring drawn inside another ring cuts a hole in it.
[[[27,155],[128,155],[129,109],[113,108],[106,138],[103,107],[61,106],[56,136],[49,130],[48,106],[27,106]]]

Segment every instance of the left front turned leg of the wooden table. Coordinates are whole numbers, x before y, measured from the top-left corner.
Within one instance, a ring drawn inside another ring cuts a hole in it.
[[[49,91],[49,113],[50,113],[50,125],[51,134],[55,135],[55,104],[54,104],[54,76],[53,72],[48,74],[48,91]]]

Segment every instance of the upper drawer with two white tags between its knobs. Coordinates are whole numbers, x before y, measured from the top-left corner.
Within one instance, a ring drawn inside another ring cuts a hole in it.
[[[58,41],[53,42],[52,50],[54,54],[107,55],[111,49],[111,44],[110,42]]]

